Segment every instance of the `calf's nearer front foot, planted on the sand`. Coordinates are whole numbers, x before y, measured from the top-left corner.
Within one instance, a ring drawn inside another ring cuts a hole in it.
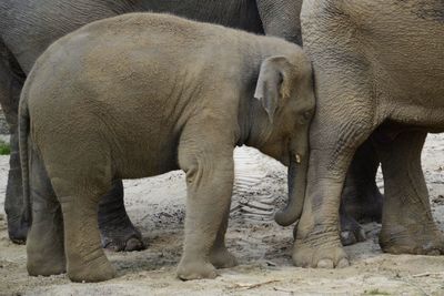
[[[183,280],[215,278],[218,273],[211,263],[182,258],[178,266],[178,277]]]

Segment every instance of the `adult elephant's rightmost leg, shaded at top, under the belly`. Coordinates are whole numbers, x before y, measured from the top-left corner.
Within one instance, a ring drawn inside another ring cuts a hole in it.
[[[377,144],[385,196],[380,245],[393,254],[444,254],[444,236],[433,221],[421,166],[426,133],[404,132]]]

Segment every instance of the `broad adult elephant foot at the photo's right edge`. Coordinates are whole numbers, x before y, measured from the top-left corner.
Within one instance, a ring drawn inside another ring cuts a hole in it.
[[[427,226],[383,225],[380,246],[391,254],[444,255],[444,235],[433,222]]]

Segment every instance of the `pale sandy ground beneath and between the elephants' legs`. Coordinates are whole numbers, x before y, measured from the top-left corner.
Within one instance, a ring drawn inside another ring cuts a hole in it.
[[[423,153],[433,213],[444,231],[444,136],[431,135]],[[174,268],[183,238],[183,174],[125,182],[129,215],[142,231],[148,249],[108,253],[115,279],[73,284],[65,275],[30,277],[26,247],[7,237],[0,212],[0,295],[444,295],[444,256],[383,254],[381,225],[364,225],[367,241],[346,247],[352,266],[337,271],[304,269],[291,264],[292,227],[272,221],[286,194],[285,169],[250,149],[235,153],[236,182],[228,246],[240,265],[221,269],[213,280],[181,282]],[[3,198],[8,157],[0,157]],[[382,186],[381,175],[379,184]],[[273,205],[274,204],[274,205]],[[0,200],[1,211],[3,200]]]

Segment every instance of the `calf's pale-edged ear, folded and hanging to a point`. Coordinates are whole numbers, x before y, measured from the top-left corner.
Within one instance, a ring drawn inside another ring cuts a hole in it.
[[[261,101],[270,123],[273,123],[279,101],[290,93],[287,81],[290,65],[284,57],[271,57],[261,64],[254,98]]]

